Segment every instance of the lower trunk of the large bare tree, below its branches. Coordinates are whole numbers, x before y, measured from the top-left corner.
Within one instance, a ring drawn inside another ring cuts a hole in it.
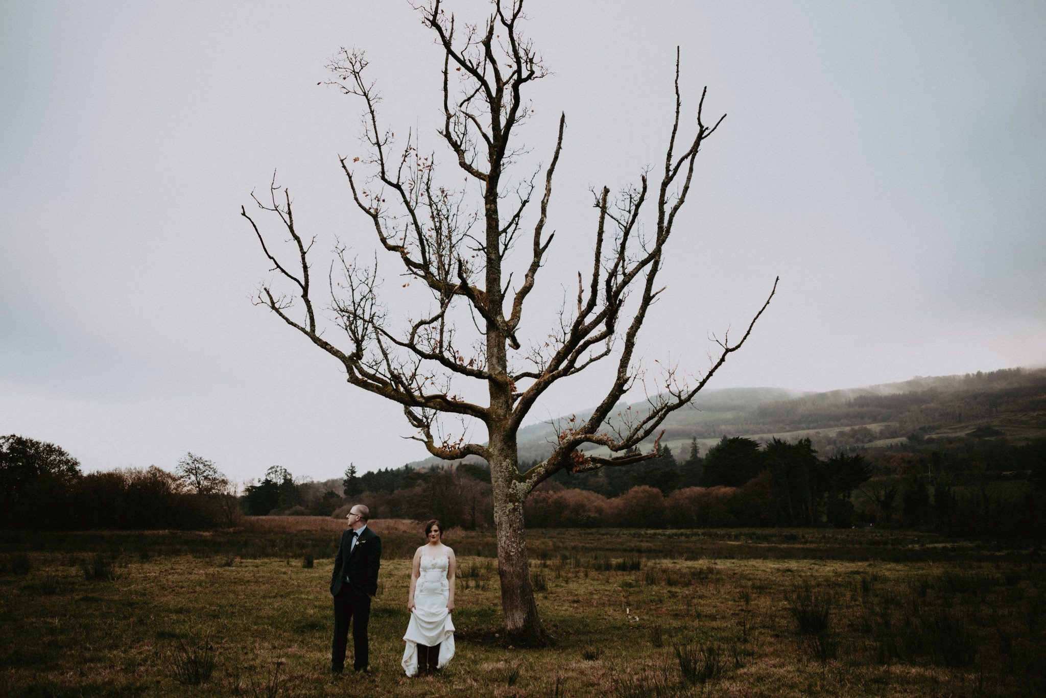
[[[493,436],[493,434],[492,434]],[[538,616],[530,586],[530,565],[523,526],[523,501],[517,489],[516,443],[491,440],[494,522],[498,530],[498,577],[505,633],[516,645],[544,645],[548,635]]]

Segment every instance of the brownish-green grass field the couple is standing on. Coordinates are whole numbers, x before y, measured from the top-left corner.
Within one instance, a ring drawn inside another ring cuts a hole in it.
[[[452,531],[457,655],[435,678],[408,679],[401,637],[420,536],[376,521],[387,554],[373,673],[332,678],[341,526],[0,534],[0,695],[1046,692],[1038,548],[878,531],[530,531],[545,649],[503,641],[492,534]]]

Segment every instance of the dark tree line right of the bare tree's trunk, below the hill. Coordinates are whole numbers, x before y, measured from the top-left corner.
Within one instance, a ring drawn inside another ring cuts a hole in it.
[[[915,432],[899,444],[858,446],[823,459],[810,438],[760,446],[723,436],[704,458],[696,442],[690,451],[675,465],[665,458],[631,471],[556,478],[528,504],[528,525],[624,520],[655,527],[876,525],[1046,536],[1046,438],[1014,445],[1001,431],[979,427],[953,437]]]

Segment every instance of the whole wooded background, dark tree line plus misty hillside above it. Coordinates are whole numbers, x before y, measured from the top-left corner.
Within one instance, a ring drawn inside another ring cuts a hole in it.
[[[662,447],[635,466],[561,472],[527,501],[527,525],[876,525],[1046,535],[1046,370],[891,387],[913,389],[769,402],[752,391],[713,393],[689,423],[677,418],[667,425],[665,441],[689,440],[677,453]],[[729,430],[724,419],[732,421]],[[755,437],[773,433],[792,436]],[[702,453],[698,440],[710,434],[717,441]],[[530,428],[530,452],[537,452],[547,434]],[[520,471],[538,461],[521,461]],[[174,473],[152,467],[84,474],[58,446],[0,437],[4,527],[234,526],[244,514],[341,517],[355,502],[379,518],[493,525],[483,463],[364,473],[350,466],[343,477],[322,482],[273,466],[240,492],[214,464],[191,453]]]

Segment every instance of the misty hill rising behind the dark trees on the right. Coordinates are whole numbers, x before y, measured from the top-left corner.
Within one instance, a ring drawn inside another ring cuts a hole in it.
[[[633,410],[645,406],[645,402],[631,405]],[[620,405],[621,409],[626,407]],[[589,408],[576,415],[585,419],[591,412]],[[831,455],[837,441],[844,447],[850,442],[867,444],[913,433],[962,433],[979,427],[1017,440],[1046,433],[1046,368],[915,377],[900,383],[826,392],[783,388],[703,390],[691,406],[665,420],[662,444],[682,455],[691,440],[707,447],[724,434],[758,441],[772,435],[810,435],[821,445],[823,455]],[[547,422],[520,429],[521,464],[546,457],[554,433],[553,425]],[[599,450],[606,449],[593,452]],[[410,465],[438,461],[428,458]]]

